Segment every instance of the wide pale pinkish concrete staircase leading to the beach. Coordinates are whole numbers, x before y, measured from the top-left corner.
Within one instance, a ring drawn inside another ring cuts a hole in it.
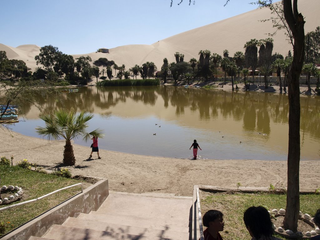
[[[97,211],[68,217],[29,240],[192,239],[192,197],[110,192]]]

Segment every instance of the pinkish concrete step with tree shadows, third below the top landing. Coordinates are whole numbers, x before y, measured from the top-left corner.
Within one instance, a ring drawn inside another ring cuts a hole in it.
[[[83,239],[99,239],[99,240],[171,240],[174,238],[160,238],[154,236],[141,236],[124,233],[114,233],[109,231],[98,231],[94,229],[65,227],[61,225],[53,225],[50,231],[44,236],[53,240],[83,240]]]

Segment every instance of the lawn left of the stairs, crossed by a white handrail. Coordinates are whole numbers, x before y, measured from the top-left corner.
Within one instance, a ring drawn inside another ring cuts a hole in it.
[[[43,172],[31,171],[19,166],[0,165],[0,177],[1,186],[19,186],[24,191],[23,198],[20,201],[13,202],[11,204],[35,199],[57,189],[64,188],[79,182],[82,182],[84,184],[84,188],[91,185],[84,181],[64,178]],[[14,228],[17,228],[21,224],[35,218],[41,213],[62,203],[63,201],[67,200],[71,196],[76,195],[79,192],[81,192],[81,187],[76,186],[74,188],[60,191],[36,202],[0,212],[0,224],[2,223],[3,226],[5,226],[5,231],[3,234],[11,231]],[[4,198],[4,196],[1,197]],[[0,205],[0,207],[4,206],[8,205]],[[1,236],[2,235],[0,234],[0,237]]]

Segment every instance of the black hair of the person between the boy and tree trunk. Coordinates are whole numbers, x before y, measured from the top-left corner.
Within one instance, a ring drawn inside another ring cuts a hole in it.
[[[244,212],[243,220],[246,228],[250,227],[250,231],[256,239],[261,236],[272,236],[273,228],[270,214],[264,207],[249,207]]]

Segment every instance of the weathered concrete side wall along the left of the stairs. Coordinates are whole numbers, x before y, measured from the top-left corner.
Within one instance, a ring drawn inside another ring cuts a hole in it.
[[[84,189],[62,204],[21,225],[1,240],[27,240],[30,236],[41,237],[53,225],[61,225],[68,217],[77,217],[80,213],[97,210],[109,196],[108,180],[103,179]]]

